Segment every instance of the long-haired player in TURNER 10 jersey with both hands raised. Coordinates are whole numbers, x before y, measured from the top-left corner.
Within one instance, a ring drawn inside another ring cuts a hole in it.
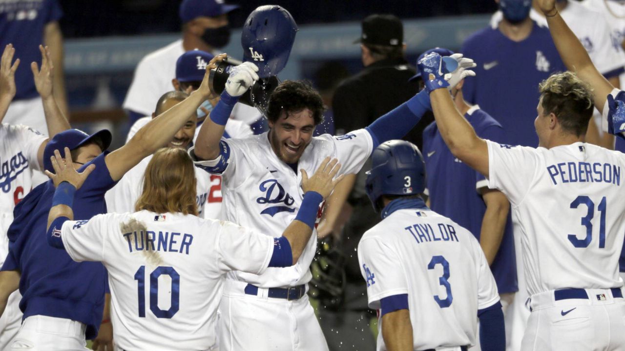
[[[103,262],[111,284],[115,340],[123,350],[212,349],[225,274],[262,274],[267,267],[297,262],[319,204],[341,178],[332,181],[340,165],[329,158],[311,179],[302,173],[302,207],[282,235],[273,238],[197,217],[196,167],[186,151],[161,149],[146,169],[139,212],[73,221],[73,194],[93,168],[78,174],[69,149],[65,153],[64,165],[56,152],[56,175],[50,174],[57,205],[49,212],[47,239],[73,260]]]

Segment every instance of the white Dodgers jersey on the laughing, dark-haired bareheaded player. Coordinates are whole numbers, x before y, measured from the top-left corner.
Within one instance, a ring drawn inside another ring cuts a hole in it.
[[[371,135],[364,129],[339,137],[329,134],[313,137],[299,159],[297,172],[294,172],[276,156],[267,132],[224,142],[229,147],[229,160],[222,174],[222,215],[226,220],[270,235],[279,235],[295,219],[303,199],[301,169],[312,175],[323,159],[330,156],[339,160],[341,174],[356,173],[373,148]],[[196,164],[211,166],[212,162],[199,161]],[[260,287],[306,284],[311,279],[309,266],[316,245],[316,234],[313,233],[297,264],[292,267],[270,267],[262,275],[231,272],[228,277]]]

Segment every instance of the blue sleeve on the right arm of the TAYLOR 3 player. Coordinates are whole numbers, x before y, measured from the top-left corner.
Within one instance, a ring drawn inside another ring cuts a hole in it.
[[[479,317],[479,342],[482,351],[506,349],[506,329],[501,302],[497,301],[486,309],[477,310]]]

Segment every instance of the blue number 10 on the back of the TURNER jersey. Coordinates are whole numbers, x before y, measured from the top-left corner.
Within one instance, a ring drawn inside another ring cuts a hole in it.
[[[158,307],[158,278],[161,275],[169,275],[171,278],[171,305],[168,310]],[[146,266],[142,265],[134,274],[137,280],[137,294],[139,297],[139,317],[146,317]],[[180,309],[180,275],[174,267],[157,267],[150,274],[150,310],[156,318],[171,318]]]

